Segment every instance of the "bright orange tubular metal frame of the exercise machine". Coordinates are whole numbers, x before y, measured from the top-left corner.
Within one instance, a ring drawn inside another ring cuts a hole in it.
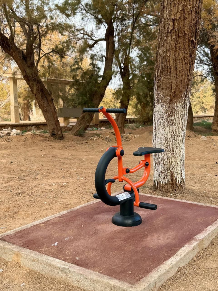
[[[116,155],[117,155],[117,158],[118,158],[118,175],[113,177],[113,179],[117,180],[119,182],[127,182],[128,184],[126,184],[124,186],[124,190],[126,191],[131,191],[131,188],[133,189],[134,191],[134,194],[135,194],[135,202],[134,202],[134,205],[135,206],[139,206],[139,194],[138,194],[138,191],[137,191],[137,188],[141,187],[142,185],[144,185],[144,183],[148,180],[148,177],[149,177],[149,174],[150,174],[150,169],[151,169],[151,157],[150,157],[150,154],[148,155],[144,155],[144,160],[141,160],[140,163],[135,166],[134,168],[131,168],[130,171],[129,171],[129,174],[130,173],[135,173],[136,171],[140,170],[141,168],[144,167],[144,173],[142,175],[142,178],[133,183],[131,180],[129,180],[128,178],[124,177],[124,175],[127,175],[126,173],[126,169],[127,167],[123,167],[123,158],[122,156],[120,155],[120,151],[123,149],[122,147],[122,140],[121,140],[121,135],[120,135],[120,132],[119,132],[119,128],[117,126],[117,123],[115,122],[115,120],[112,118],[112,116],[110,115],[110,113],[106,112],[106,108],[103,107],[103,109],[99,109],[99,112],[102,112],[104,114],[104,116],[110,121],[114,131],[115,131],[115,136],[116,136],[116,139],[117,139],[117,146],[113,146],[113,147],[116,147],[117,148],[117,151],[116,151]],[[108,150],[108,148],[106,149]],[[146,162],[149,163],[148,166],[146,166]],[[111,195],[111,185],[112,183],[109,182],[108,183],[108,188],[107,188],[107,191],[108,191],[108,194]]]

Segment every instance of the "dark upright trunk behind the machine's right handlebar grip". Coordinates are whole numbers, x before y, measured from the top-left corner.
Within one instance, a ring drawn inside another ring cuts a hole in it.
[[[123,66],[117,61],[119,65],[120,75],[123,82],[123,92],[120,100],[120,108],[125,108],[125,114],[117,114],[116,115],[116,123],[119,127],[120,133],[125,133],[124,127],[126,122],[127,110],[131,97],[131,84],[130,84],[130,70],[129,70],[129,56],[126,54],[124,58]]]

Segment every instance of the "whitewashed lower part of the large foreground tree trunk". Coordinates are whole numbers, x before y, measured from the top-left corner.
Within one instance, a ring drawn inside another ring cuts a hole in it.
[[[188,117],[189,92],[183,100],[166,106],[154,101],[153,147],[164,153],[154,154],[154,185],[160,191],[181,191],[185,187],[185,131]]]

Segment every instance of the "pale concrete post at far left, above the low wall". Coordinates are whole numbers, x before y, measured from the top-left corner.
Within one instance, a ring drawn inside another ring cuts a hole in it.
[[[12,123],[20,122],[19,105],[17,99],[17,79],[9,78],[10,82],[10,118]]]

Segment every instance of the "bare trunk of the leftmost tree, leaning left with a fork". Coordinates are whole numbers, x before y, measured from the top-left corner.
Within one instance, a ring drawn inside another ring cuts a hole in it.
[[[12,39],[9,40],[0,32],[0,46],[17,63],[24,80],[33,95],[35,95],[39,108],[42,110],[44,118],[47,121],[49,134],[55,139],[63,139],[53,98],[40,79],[35,66],[33,45],[31,46],[28,43],[26,54],[24,54]]]

